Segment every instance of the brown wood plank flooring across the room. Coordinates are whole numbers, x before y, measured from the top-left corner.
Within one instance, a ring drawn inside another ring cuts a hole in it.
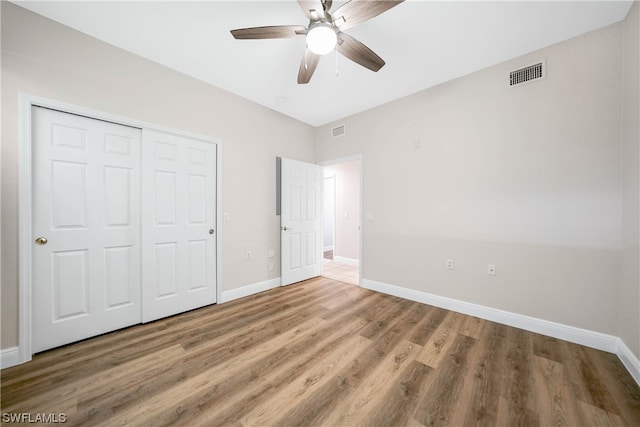
[[[3,422],[640,425],[613,354],[326,278],[43,352],[1,381]]]

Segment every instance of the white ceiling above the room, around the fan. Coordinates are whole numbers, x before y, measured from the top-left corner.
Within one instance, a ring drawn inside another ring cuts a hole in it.
[[[235,40],[229,33],[263,25],[307,25],[293,0],[15,3],[321,126],[618,22],[632,1],[407,0],[346,31],[386,61],[379,72],[329,54],[307,85],[296,83],[304,37]],[[335,0],[332,10],[342,3]]]

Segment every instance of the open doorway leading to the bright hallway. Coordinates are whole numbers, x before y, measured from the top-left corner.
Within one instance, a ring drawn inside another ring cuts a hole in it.
[[[360,159],[323,164],[323,276],[360,283],[361,174]]]

